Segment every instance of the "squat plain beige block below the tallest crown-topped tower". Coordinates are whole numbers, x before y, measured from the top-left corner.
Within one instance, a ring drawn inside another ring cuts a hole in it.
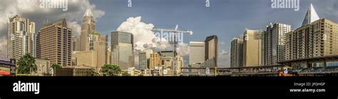
[[[97,52],[94,50],[80,51],[74,54],[77,66],[88,66],[97,69]]]

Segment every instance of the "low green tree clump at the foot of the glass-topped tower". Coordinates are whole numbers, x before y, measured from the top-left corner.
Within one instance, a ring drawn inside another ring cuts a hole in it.
[[[119,76],[121,74],[120,66],[115,64],[105,64],[100,70],[102,76]]]

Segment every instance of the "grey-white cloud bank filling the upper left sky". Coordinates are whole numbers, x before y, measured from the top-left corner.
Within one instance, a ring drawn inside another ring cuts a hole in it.
[[[66,18],[68,27],[73,29],[73,35],[78,36],[81,33],[81,23],[83,13],[86,9],[91,9],[95,18],[101,18],[105,12],[96,9],[96,5],[89,3],[88,0],[68,0],[68,11],[62,11],[62,8],[40,8],[39,0],[1,0],[0,1],[0,42],[6,42],[6,23],[9,18],[19,15],[29,18],[36,23],[36,33],[43,22],[57,21]],[[6,54],[6,45],[0,45],[0,54]]]

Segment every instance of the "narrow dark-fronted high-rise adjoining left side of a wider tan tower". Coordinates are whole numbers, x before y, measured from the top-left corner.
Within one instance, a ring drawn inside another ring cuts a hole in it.
[[[230,67],[243,66],[243,35],[235,37],[231,41]]]

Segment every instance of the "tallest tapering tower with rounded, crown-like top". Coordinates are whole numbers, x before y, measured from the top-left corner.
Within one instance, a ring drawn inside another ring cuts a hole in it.
[[[94,33],[96,22],[94,21],[94,15],[90,9],[83,15],[83,21],[81,26],[81,35],[80,35],[80,50],[86,50],[87,37]]]

